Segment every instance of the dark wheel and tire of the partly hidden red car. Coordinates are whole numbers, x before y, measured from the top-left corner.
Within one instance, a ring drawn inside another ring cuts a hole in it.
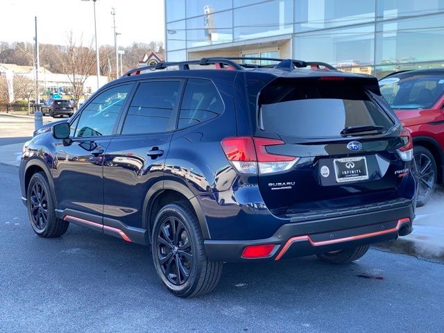
[[[416,178],[416,207],[421,207],[435,191],[438,168],[434,155],[423,146],[414,146],[411,169]]]

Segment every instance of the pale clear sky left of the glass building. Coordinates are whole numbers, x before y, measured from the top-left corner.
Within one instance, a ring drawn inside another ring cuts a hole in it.
[[[114,45],[111,8],[116,9],[118,40],[164,42],[163,0],[97,0],[97,40]],[[0,0],[0,41],[33,42],[34,17],[37,16],[41,43],[66,44],[67,32],[89,43],[94,37],[92,1],[82,0]]]

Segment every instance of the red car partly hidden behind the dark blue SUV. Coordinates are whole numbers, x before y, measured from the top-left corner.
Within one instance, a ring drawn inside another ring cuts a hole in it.
[[[379,81],[381,92],[413,137],[418,206],[425,205],[444,173],[444,69],[401,71]]]

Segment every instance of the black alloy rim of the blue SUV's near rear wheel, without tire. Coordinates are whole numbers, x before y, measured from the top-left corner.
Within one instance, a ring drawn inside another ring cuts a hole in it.
[[[157,255],[165,278],[180,286],[187,282],[193,267],[189,232],[174,216],[162,221],[157,234]]]

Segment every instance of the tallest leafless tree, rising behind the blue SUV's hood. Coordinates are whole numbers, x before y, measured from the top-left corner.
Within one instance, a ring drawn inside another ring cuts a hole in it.
[[[92,49],[92,42],[89,46],[83,45],[83,38],[80,36],[76,41],[72,31],[67,36],[66,49],[58,52],[58,59],[65,74],[67,74],[71,91],[68,95],[78,108],[78,101],[85,94],[85,82],[94,73],[95,52]]]

